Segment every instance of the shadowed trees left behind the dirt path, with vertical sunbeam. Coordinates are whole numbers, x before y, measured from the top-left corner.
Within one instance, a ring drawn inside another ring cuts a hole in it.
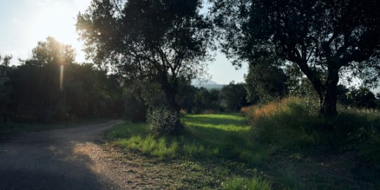
[[[3,122],[50,123],[71,118],[112,117],[123,113],[123,88],[116,76],[78,64],[71,46],[53,38],[39,42],[27,60],[0,66]]]

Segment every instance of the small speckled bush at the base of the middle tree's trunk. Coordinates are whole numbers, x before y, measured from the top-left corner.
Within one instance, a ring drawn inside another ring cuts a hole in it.
[[[151,108],[147,111],[147,123],[150,133],[153,135],[169,135],[175,130],[175,124],[179,119],[179,113],[168,107]]]

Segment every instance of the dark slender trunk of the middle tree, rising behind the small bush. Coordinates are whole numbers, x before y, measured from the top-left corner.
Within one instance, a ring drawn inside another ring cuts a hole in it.
[[[173,111],[177,114],[177,120],[175,121],[172,135],[180,135],[182,133],[182,130],[184,129],[184,126],[179,120],[179,106],[177,102],[175,101],[175,97],[177,94],[173,88],[168,88],[168,87],[164,88],[163,92],[165,93],[165,98],[166,98],[166,102],[168,103],[168,108],[170,109],[170,111]]]

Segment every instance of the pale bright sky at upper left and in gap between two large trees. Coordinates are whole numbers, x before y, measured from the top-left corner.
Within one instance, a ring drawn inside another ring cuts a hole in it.
[[[0,0],[0,55],[13,55],[12,65],[17,65],[39,41],[53,36],[76,49],[77,62],[86,61],[75,23],[76,15],[89,5],[90,0]],[[242,82],[246,73],[247,67],[236,70],[219,52],[208,67],[212,81],[220,84]]]

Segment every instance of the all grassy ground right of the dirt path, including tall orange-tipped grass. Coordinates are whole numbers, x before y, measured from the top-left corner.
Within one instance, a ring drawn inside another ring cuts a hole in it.
[[[308,114],[299,102],[273,102],[243,114],[186,114],[186,133],[179,137],[154,137],[146,123],[123,123],[106,139],[125,154],[179,165],[172,172],[185,177],[176,189],[379,188],[378,113],[342,113],[336,122],[350,134],[332,140],[311,125],[336,123]]]

